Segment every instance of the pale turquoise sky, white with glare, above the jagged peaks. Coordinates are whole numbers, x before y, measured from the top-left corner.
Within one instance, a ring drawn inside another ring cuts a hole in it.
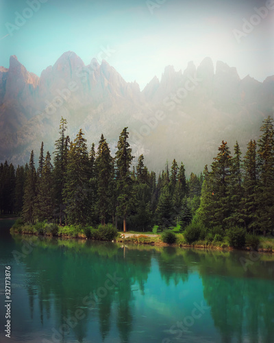
[[[274,75],[274,0],[0,0],[0,6],[0,65],[8,68],[16,55],[38,76],[69,50],[85,64],[105,58],[141,89],[167,65],[184,70],[206,56],[236,67],[240,78]]]

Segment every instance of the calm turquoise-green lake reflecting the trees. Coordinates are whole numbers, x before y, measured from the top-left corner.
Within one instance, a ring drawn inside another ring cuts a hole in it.
[[[11,225],[0,220],[0,342],[274,342],[272,255],[12,236]]]

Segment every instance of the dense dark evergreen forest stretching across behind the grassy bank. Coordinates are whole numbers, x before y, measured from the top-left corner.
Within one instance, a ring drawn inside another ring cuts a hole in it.
[[[104,225],[123,230],[160,230],[201,224],[247,233],[271,233],[274,226],[273,119],[262,123],[258,142],[251,140],[242,158],[238,143],[234,154],[222,141],[208,170],[187,179],[183,163],[166,163],[159,175],[145,166],[144,156],[132,167],[129,132],[124,128],[115,156],[101,135],[95,151],[88,152],[84,133],[71,141],[67,122],[60,121],[53,161],[41,144],[38,168],[32,151],[29,163],[15,169],[0,165],[1,214],[19,214],[26,223],[47,220],[59,224]],[[216,228],[218,230],[216,230]]]

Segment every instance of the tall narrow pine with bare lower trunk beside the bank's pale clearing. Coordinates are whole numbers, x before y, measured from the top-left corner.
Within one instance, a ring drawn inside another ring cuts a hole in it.
[[[117,165],[117,189],[118,189],[118,215],[123,216],[123,230],[127,230],[127,215],[131,211],[134,197],[132,193],[132,178],[130,176],[130,165],[132,163],[132,149],[129,147],[127,128],[120,134],[117,144],[116,165]]]

